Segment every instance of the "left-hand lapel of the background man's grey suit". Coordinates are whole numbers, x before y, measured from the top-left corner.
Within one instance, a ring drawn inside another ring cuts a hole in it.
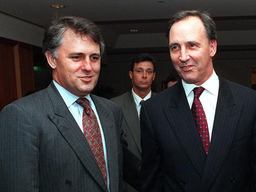
[[[129,126],[132,133],[132,137],[141,152],[141,129],[139,126],[139,116],[137,113],[137,108],[132,96],[132,90],[127,93],[123,108],[124,118]]]

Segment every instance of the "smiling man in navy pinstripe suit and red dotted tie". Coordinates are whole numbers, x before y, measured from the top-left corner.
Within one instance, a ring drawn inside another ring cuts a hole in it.
[[[142,106],[142,191],[253,191],[256,92],[214,72],[209,14],[175,14],[167,38],[182,80]]]

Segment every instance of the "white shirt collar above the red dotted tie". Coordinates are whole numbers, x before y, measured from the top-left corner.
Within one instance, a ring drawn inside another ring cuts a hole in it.
[[[189,84],[182,79],[182,85],[184,87],[186,96],[193,91],[195,87],[204,87],[210,94],[217,95],[219,91],[219,78],[215,71],[211,74],[210,78],[207,79],[202,85]]]

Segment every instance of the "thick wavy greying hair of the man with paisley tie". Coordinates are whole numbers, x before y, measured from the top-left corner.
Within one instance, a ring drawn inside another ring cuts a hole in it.
[[[52,20],[45,31],[43,39],[43,53],[49,51],[53,57],[58,58],[58,48],[63,43],[63,34],[67,29],[80,35],[89,35],[93,41],[100,45],[100,55],[103,54],[105,45],[100,28],[93,22],[82,17],[65,16]]]

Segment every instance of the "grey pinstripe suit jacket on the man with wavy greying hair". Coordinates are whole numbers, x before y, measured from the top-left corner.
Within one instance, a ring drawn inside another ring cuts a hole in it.
[[[122,114],[91,95],[108,154],[111,192],[122,192]],[[107,192],[87,140],[58,90],[17,100],[0,114],[0,191]]]

